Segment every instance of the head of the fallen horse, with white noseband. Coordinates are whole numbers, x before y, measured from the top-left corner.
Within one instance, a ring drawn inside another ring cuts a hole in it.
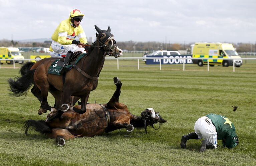
[[[159,112],[155,112],[153,108],[147,108],[144,111],[141,112],[142,120],[144,120],[144,128],[147,133],[147,126],[152,126],[154,128],[154,124],[159,122],[159,127],[161,123],[167,122],[165,119],[163,119]],[[155,129],[155,128],[154,128]]]

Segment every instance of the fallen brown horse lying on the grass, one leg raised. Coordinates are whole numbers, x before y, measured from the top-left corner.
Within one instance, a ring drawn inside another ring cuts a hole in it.
[[[62,146],[65,140],[79,136],[92,137],[120,128],[131,132],[134,127],[144,127],[147,132],[148,125],[166,122],[153,108],[145,109],[141,116],[131,114],[127,106],[119,102],[122,83],[117,77],[113,80],[116,90],[108,103],[87,104],[87,110],[83,114],[68,110],[60,118],[50,122],[27,120],[24,123],[25,133],[27,134],[30,127],[33,127],[47,137],[55,138],[57,144]],[[80,108],[80,105],[76,107]]]

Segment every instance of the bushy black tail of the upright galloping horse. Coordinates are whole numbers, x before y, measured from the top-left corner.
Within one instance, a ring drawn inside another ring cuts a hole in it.
[[[35,73],[35,69],[28,70],[23,76],[21,77],[16,76],[13,80],[9,78],[7,82],[10,85],[9,90],[13,92],[13,94],[11,95],[14,97],[19,97],[24,94],[27,95],[28,89],[34,83],[34,73]]]

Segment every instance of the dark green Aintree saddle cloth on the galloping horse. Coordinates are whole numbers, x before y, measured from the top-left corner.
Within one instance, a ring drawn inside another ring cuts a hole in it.
[[[71,58],[71,62],[70,65],[65,66],[64,68],[67,68],[68,70],[71,70],[73,65],[76,65],[77,62],[84,56],[87,56],[88,54],[82,53],[80,55],[75,56],[75,54],[73,55],[73,57]],[[77,58],[76,58],[77,57]],[[56,59],[51,66],[48,69],[48,73],[49,74],[54,74],[54,75],[60,75],[60,70],[63,66],[63,59],[64,58],[58,58]]]

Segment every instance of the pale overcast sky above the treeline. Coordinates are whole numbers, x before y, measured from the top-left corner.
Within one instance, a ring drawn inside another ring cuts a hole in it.
[[[51,38],[72,9],[116,41],[256,42],[256,0],[0,0],[0,40]]]

